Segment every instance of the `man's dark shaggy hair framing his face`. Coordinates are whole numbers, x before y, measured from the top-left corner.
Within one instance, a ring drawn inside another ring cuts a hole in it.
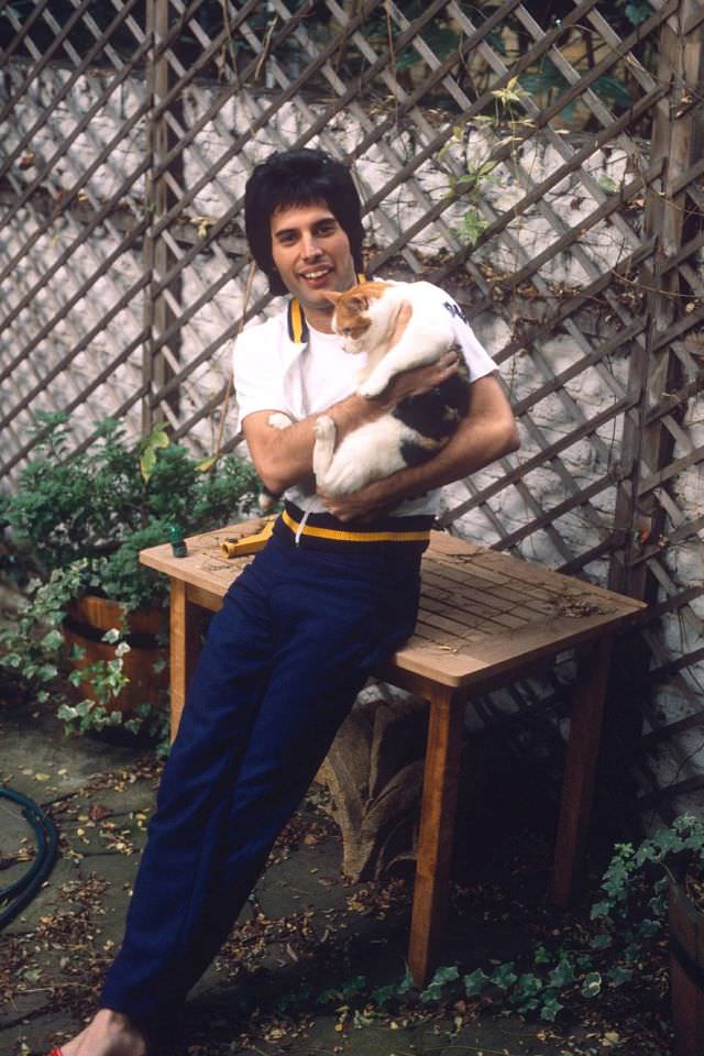
[[[362,207],[349,169],[322,151],[282,151],[256,165],[244,190],[244,227],[252,256],[274,294],[287,294],[272,258],[272,216],[277,209],[323,201],[350,240],[362,271]]]

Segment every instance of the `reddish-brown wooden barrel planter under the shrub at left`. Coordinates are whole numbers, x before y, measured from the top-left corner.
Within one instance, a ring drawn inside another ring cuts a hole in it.
[[[121,628],[127,623],[125,640],[130,651],[122,657],[122,670],[130,681],[112,701],[112,711],[129,716],[144,701],[156,703],[168,686],[166,668],[154,670],[157,661],[167,659],[167,647],[157,640],[158,635],[166,632],[166,620],[163,608],[138,609],[125,618],[118,602],[91,594],[78,598],[68,607],[63,628],[67,646],[84,650],[80,658],[70,660],[70,666],[81,670],[99,660],[114,660],[116,647],[101,639],[107,630]],[[97,702],[89,679],[80,683],[78,693],[81,698]]]

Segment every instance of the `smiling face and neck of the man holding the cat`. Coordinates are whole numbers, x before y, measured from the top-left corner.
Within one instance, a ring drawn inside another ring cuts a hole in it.
[[[272,217],[272,256],[309,323],[330,332],[332,305],[322,290],[342,293],[356,275],[350,240],[324,202],[278,209]]]

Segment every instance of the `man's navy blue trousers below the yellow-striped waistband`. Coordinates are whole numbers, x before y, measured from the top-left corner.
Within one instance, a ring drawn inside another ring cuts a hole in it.
[[[212,618],[101,1004],[178,1012],[374,666],[413,634],[417,552],[274,536]]]

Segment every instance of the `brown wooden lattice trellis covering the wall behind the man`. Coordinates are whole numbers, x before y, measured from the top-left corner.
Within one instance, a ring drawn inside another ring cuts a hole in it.
[[[635,769],[644,806],[674,803],[704,784],[704,6],[544,10],[4,7],[1,458],[11,480],[56,409],[82,443],[109,413],[209,450],[231,340],[268,308],[261,278],[244,304],[246,175],[321,145],[358,180],[369,270],[446,285],[519,417],[520,453],[449,490],[442,522],[653,603]],[[553,706],[536,692],[521,718]]]

